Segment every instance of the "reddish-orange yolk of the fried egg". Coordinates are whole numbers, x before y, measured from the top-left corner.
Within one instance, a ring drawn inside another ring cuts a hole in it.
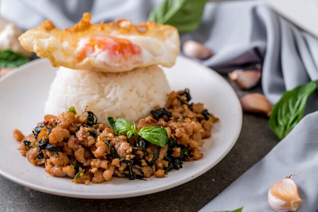
[[[112,36],[97,36],[87,39],[84,46],[78,51],[77,61],[82,61],[89,54],[98,50],[107,52],[110,59],[127,61],[134,56],[141,55],[141,48],[127,39]]]

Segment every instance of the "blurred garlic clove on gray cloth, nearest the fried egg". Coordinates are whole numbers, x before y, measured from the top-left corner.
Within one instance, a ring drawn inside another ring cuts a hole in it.
[[[182,50],[185,56],[195,57],[198,59],[207,59],[212,57],[213,52],[211,49],[203,46],[195,41],[186,41],[183,43]]]

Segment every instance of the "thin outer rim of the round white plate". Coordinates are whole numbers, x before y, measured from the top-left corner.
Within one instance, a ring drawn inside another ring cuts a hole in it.
[[[187,60],[188,62],[191,63],[196,63],[196,65],[200,66],[203,69],[206,69],[208,71],[213,72],[213,74],[215,74],[215,76],[217,76],[220,80],[222,80],[230,89],[229,91],[231,91],[234,96],[236,97],[236,101],[239,102],[239,98],[235,92],[235,90],[233,89],[233,87],[217,72],[215,72],[215,70],[213,70],[210,67],[207,67],[205,65],[200,64],[197,61],[188,59],[186,57],[183,56],[178,56],[178,58],[182,58]],[[36,59],[33,61],[30,61],[18,68],[16,68],[16,70],[14,70],[14,72],[7,74],[6,76],[2,77],[0,79],[0,84],[7,80],[7,78],[13,77],[15,75],[18,75],[20,72],[23,72],[23,70],[25,68],[28,68],[29,66],[33,66],[36,65],[37,63],[44,63],[47,62],[45,59]],[[22,185],[24,187],[30,188],[30,189],[34,189],[37,191],[41,191],[44,193],[48,193],[48,194],[53,194],[53,195],[59,195],[59,196],[66,196],[66,197],[76,197],[76,198],[85,198],[85,199],[115,199],[115,198],[127,198],[127,197],[136,197],[136,196],[142,196],[142,195],[147,195],[147,194],[152,194],[152,193],[157,193],[157,192],[161,192],[167,189],[171,189],[174,187],[177,187],[179,185],[182,185],[186,182],[189,182],[195,178],[197,178],[198,176],[202,175],[203,173],[207,172],[208,170],[210,170],[212,167],[214,167],[217,163],[219,163],[234,147],[234,145],[237,142],[237,139],[241,133],[241,129],[242,129],[242,122],[243,122],[243,113],[242,113],[242,109],[241,109],[241,105],[238,104],[240,107],[240,113],[237,114],[238,115],[238,121],[239,121],[239,127],[238,130],[235,134],[235,139],[233,139],[231,145],[228,147],[228,149],[221,155],[219,156],[219,158],[217,160],[215,160],[213,163],[210,163],[209,166],[207,166],[205,169],[201,169],[193,174],[190,175],[185,175],[184,177],[181,177],[179,181],[177,182],[168,182],[165,183],[164,185],[156,185],[153,187],[148,187],[145,189],[140,189],[138,191],[133,191],[133,192],[121,192],[121,193],[116,193],[116,194],[109,194],[109,195],[105,195],[105,194],[100,194],[100,193],[89,193],[89,194],[85,194],[85,193],[78,193],[78,192],[73,192],[73,191],[61,191],[61,190],[57,190],[57,189],[51,189],[51,188],[46,188],[46,187],[42,187],[42,186],[38,186],[36,184],[33,183],[29,183],[27,181],[24,181],[23,179],[17,178],[16,176],[7,173],[6,171],[0,169],[0,175],[2,175],[4,178],[17,183],[19,185]]]

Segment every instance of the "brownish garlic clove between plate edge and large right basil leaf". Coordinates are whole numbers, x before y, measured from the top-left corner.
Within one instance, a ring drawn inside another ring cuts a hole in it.
[[[245,112],[270,115],[272,111],[271,102],[260,93],[250,93],[241,98],[242,109]]]

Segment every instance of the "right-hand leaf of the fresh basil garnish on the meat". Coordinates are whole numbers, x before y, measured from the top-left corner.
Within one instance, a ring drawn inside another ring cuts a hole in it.
[[[138,134],[151,144],[160,147],[165,147],[169,139],[167,130],[161,127],[143,127]]]

